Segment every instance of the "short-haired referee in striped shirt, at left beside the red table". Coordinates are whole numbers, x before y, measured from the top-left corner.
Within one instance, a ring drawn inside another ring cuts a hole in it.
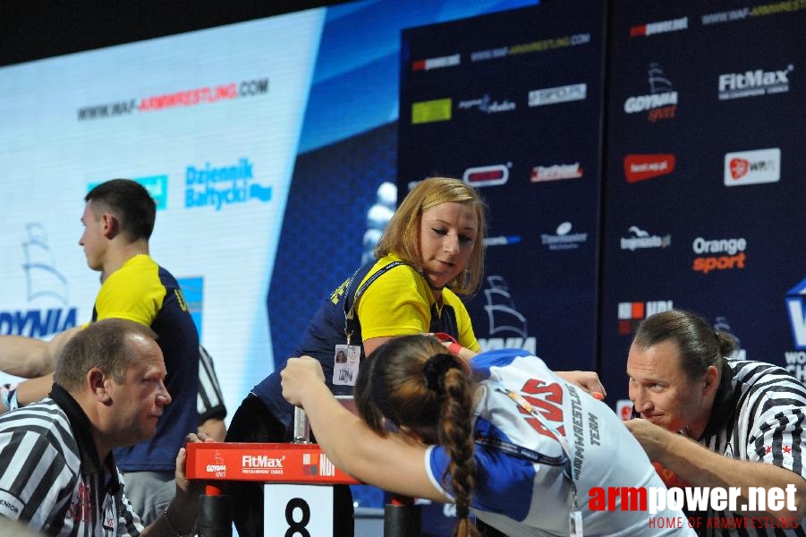
[[[157,335],[129,320],[100,320],[64,346],[42,401],[0,416],[0,517],[47,535],[143,532],[113,448],[154,436],[171,396]],[[189,435],[189,441],[197,441]],[[176,457],[176,496],[148,534],[176,537],[196,523],[198,486]]]

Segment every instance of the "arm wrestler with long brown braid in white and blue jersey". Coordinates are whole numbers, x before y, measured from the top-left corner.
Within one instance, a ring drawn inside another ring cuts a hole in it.
[[[360,417],[339,405],[308,357],[289,360],[283,395],[305,409],[319,445],[345,472],[454,502],[454,535],[478,534],[471,509],[512,537],[693,535],[682,511],[623,509],[610,492],[665,487],[607,405],[520,349],[465,362],[454,354],[474,353],[447,346],[452,354],[437,337],[417,335],[379,347],[356,383]]]

